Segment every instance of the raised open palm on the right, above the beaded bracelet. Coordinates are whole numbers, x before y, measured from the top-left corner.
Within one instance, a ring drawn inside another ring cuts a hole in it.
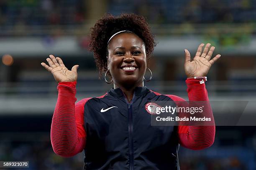
[[[216,55],[211,59],[212,53],[215,47],[210,47],[210,43],[205,45],[205,49],[202,53],[202,48],[205,44],[200,44],[197,53],[193,60],[190,60],[190,53],[187,49],[185,49],[185,73],[187,77],[201,77],[206,76],[210,67],[213,65],[215,61],[220,58],[220,54]],[[210,50],[209,50],[210,48]],[[202,54],[201,54],[202,53]]]

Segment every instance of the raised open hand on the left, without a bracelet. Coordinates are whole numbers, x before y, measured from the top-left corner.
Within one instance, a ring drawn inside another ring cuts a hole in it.
[[[49,65],[46,63],[42,62],[41,65],[51,72],[51,74],[54,76],[56,82],[73,82],[77,81],[77,69],[79,65],[74,65],[70,70],[65,67],[63,61],[61,60],[60,57],[54,57],[54,55],[50,55],[50,58],[47,58],[47,62]]]

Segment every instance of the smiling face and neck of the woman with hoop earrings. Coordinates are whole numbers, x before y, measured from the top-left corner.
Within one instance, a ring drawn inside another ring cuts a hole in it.
[[[133,33],[122,32],[110,41],[108,51],[108,70],[112,77],[115,77],[114,88],[142,87],[143,75],[146,72],[146,51],[143,40]]]

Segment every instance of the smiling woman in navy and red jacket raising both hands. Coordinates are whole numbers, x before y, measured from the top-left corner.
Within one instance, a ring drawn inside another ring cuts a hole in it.
[[[41,63],[59,82],[51,125],[51,144],[57,155],[71,157],[84,150],[84,169],[88,170],[165,170],[179,169],[179,144],[193,150],[212,145],[215,126],[151,126],[151,112],[146,110],[150,101],[174,101],[181,106],[184,99],[144,86],[155,42],[143,17],[103,16],[91,30],[89,46],[100,74],[110,76],[106,82],[113,82],[113,88],[100,97],[75,104],[78,65],[68,70],[53,55],[46,59],[49,66]],[[203,46],[198,47],[194,60],[185,50],[187,92],[192,101],[208,101],[205,76],[220,57],[210,60],[215,47],[207,44],[202,52]],[[203,114],[212,117],[211,108]]]

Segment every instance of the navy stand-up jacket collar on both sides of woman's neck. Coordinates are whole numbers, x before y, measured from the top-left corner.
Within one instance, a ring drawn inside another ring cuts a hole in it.
[[[135,87],[134,89],[134,94],[136,96],[142,96],[144,95],[146,92],[150,91],[146,86],[143,87]],[[108,91],[108,94],[116,96],[116,97],[124,97],[124,93],[123,90],[118,87],[116,89],[114,89],[113,87]]]

